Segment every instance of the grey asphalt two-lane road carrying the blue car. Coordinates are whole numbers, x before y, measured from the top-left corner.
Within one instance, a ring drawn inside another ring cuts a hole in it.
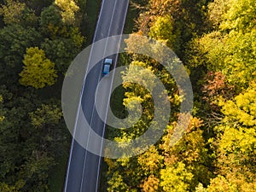
[[[129,0],[103,0],[102,9],[98,17],[96,24],[96,32],[93,42],[96,42],[102,38],[108,38],[113,35],[119,35],[123,33],[125,26],[125,16],[127,13]],[[106,44],[101,50],[94,49],[92,46],[90,57],[96,54],[104,52],[106,49],[116,49],[116,46],[110,46]],[[116,65],[117,55],[111,55],[113,58],[113,67]],[[89,61],[89,67],[90,67]],[[79,112],[77,123],[78,127],[75,127],[74,133],[79,137],[84,137],[84,146],[94,146],[96,150],[102,150],[102,143],[95,143],[90,139],[90,131],[83,131],[83,118],[87,119],[90,123],[93,131],[99,136],[104,136],[105,124],[98,117],[95,107],[96,87],[99,81],[102,79],[102,61],[97,63],[95,67],[87,72],[86,79],[84,81],[84,88],[81,98],[81,105],[79,106]],[[106,109],[110,100],[110,90],[113,76],[109,79],[104,79],[104,86],[102,99],[103,104],[101,110]],[[107,112],[106,112],[107,115]],[[83,132],[84,135],[80,135]],[[100,154],[100,153],[99,153]],[[101,173],[102,158],[96,154],[91,154],[79,145],[74,139],[70,150],[70,157],[67,165],[67,176],[64,186],[64,192],[96,192],[99,191],[99,178]]]

